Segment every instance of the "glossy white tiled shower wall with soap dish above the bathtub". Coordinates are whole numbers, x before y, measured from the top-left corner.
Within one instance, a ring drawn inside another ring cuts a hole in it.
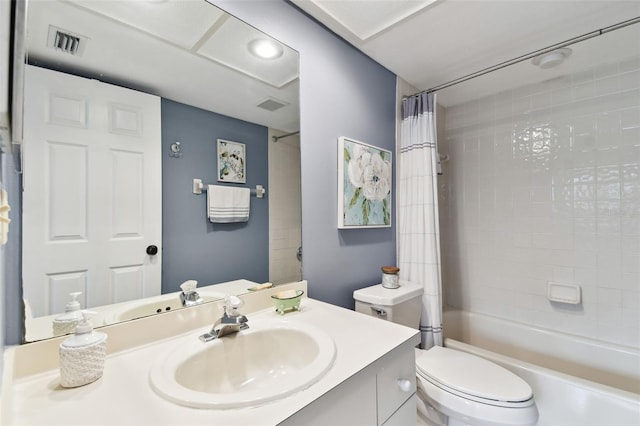
[[[445,117],[445,303],[640,347],[640,57]],[[582,303],[550,302],[549,281]]]

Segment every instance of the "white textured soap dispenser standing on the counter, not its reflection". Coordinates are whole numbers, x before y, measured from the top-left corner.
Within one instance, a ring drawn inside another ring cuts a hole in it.
[[[82,311],[76,333],[60,344],[60,384],[65,388],[83,386],[102,377],[107,335],[93,330],[89,316],[94,313]]]

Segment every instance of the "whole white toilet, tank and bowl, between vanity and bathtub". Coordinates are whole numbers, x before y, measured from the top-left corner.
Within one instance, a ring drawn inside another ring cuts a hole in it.
[[[356,311],[409,327],[420,325],[422,286],[374,285],[353,292]],[[426,425],[534,425],[531,387],[484,358],[454,349],[416,349],[418,420]]]

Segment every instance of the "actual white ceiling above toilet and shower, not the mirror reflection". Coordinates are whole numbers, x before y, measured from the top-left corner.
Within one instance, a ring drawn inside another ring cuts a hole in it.
[[[638,0],[292,2],[420,91],[640,16]],[[451,106],[638,55],[640,25],[571,48],[560,67],[540,70],[526,61],[444,89],[438,100]]]

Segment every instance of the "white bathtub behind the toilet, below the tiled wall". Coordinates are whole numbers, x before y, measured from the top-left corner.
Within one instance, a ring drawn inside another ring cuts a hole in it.
[[[513,371],[539,425],[640,425],[640,352],[482,314],[447,310],[445,346]]]

